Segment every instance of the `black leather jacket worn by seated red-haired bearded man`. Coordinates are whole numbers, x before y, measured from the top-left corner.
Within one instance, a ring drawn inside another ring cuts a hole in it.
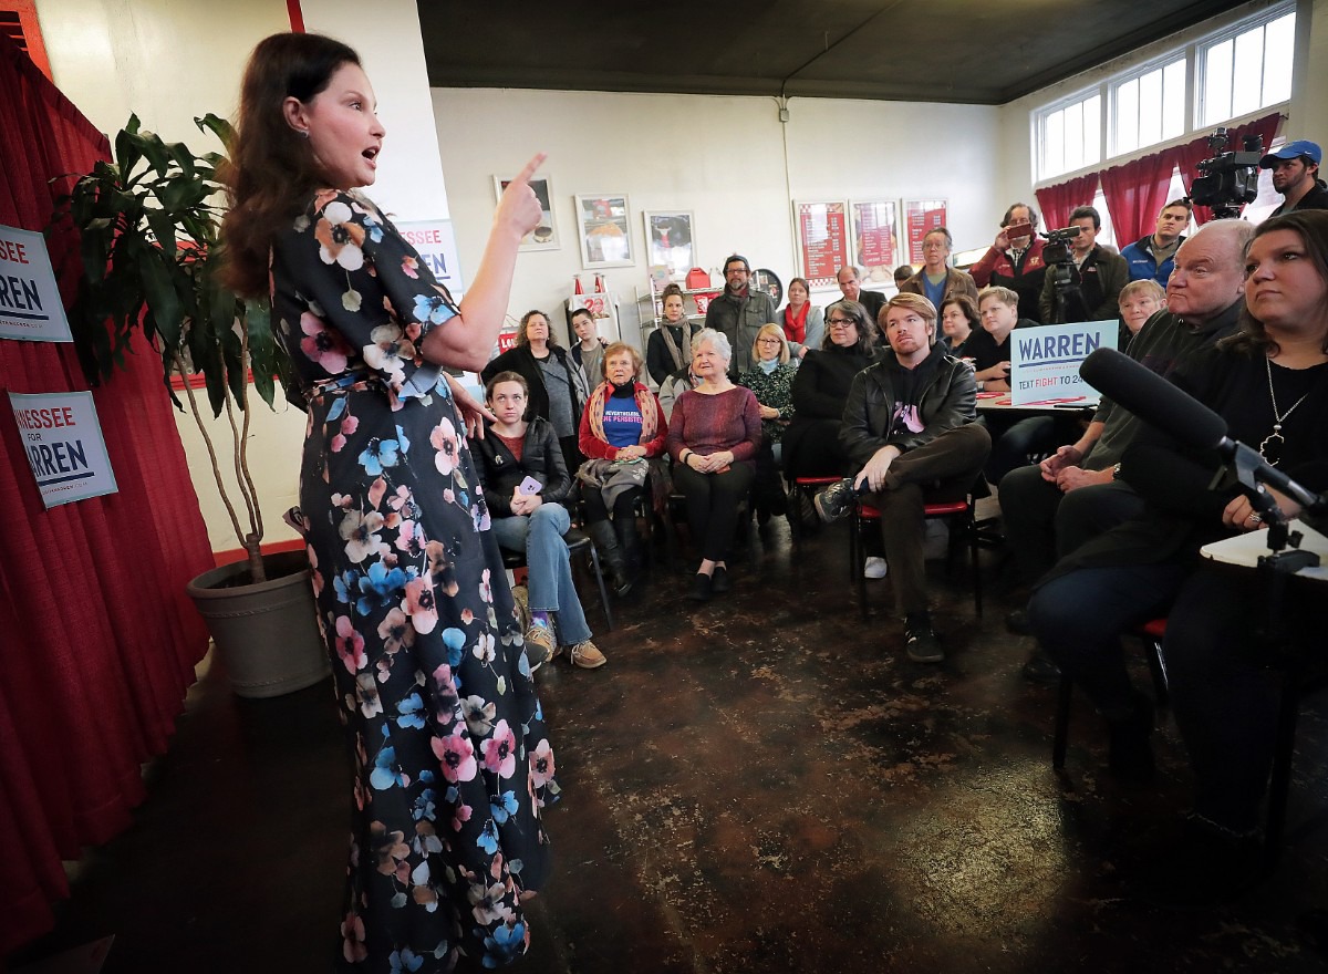
[[[882,446],[895,445],[903,452],[931,442],[947,429],[972,423],[977,417],[977,383],[973,371],[951,357],[939,343],[908,376],[895,353],[886,349],[882,360],[854,376],[849,401],[843,408],[839,441],[849,457],[865,466]],[[895,415],[896,383],[922,383],[916,396],[922,432],[890,435]]]

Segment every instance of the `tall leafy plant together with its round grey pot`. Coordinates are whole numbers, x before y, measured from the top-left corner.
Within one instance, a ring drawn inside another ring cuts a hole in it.
[[[207,114],[194,122],[230,145],[232,129]],[[116,136],[114,159],[78,177],[56,211],[78,230],[82,267],[69,308],[80,361],[97,385],[124,361],[134,328],[159,351],[162,381],[194,417],[212,476],[246,558],[189,585],[227,660],[236,692],[275,696],[317,682],[327,656],[317,630],[303,551],[262,554],[263,514],[248,468],[248,385],[268,407],[288,361],[272,340],[268,308],[242,300],[218,276],[222,207],[216,169],[224,158],[195,154],[143,132],[137,116]],[[183,380],[185,403],[173,388]],[[195,391],[201,377],[214,420],[226,415],[236,484],[222,477],[212,429]],[[236,500],[244,509],[242,525]],[[284,615],[283,615],[284,613]]]

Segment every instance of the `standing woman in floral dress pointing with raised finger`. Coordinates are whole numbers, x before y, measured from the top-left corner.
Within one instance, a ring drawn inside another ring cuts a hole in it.
[[[558,785],[466,449],[479,407],[440,367],[477,369],[497,339],[543,157],[503,194],[458,306],[355,191],[382,137],[351,48],[268,37],[244,76],[223,239],[235,290],[271,294],[309,413],[299,517],[356,769],[340,962],[495,967],[529,943]]]

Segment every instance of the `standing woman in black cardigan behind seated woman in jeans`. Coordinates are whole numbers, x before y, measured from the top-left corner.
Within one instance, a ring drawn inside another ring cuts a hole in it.
[[[522,315],[517,347],[485,365],[479,377],[487,385],[499,372],[515,372],[526,380],[530,415],[552,424],[567,469],[580,468],[586,457],[576,448],[576,433],[582,409],[590,399],[590,384],[568,351],[552,340],[548,315],[543,311]]]

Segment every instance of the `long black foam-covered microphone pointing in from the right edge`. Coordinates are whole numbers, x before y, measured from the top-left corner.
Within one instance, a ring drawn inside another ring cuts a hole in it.
[[[1251,480],[1242,482],[1250,489],[1259,490],[1254,481],[1260,481],[1308,512],[1328,510],[1328,494],[1301,486],[1271,466],[1258,450],[1230,438],[1224,419],[1127,355],[1098,348],[1084,359],[1080,377],[1174,440],[1198,449],[1215,449],[1232,461],[1238,474],[1248,470]]]

